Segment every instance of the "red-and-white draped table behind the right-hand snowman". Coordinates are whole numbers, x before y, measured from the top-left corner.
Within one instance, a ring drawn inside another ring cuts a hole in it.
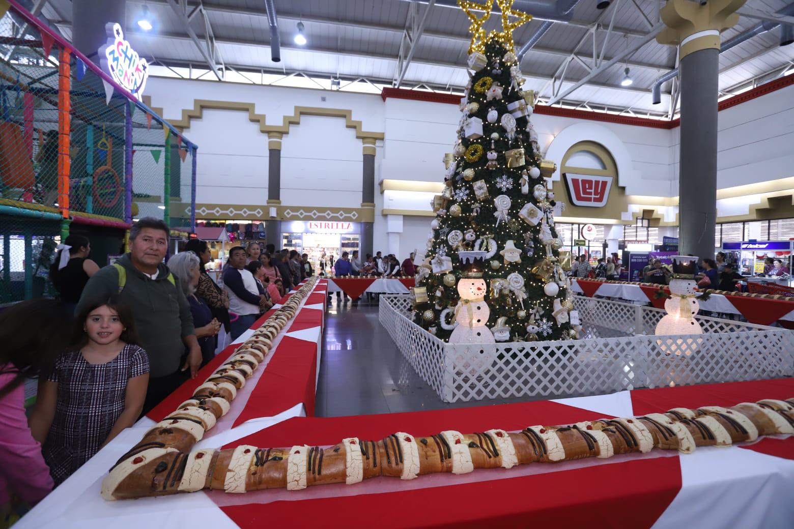
[[[625,301],[651,303],[657,309],[665,306],[664,298],[655,296],[658,286],[573,279],[571,289],[588,297],[617,297]],[[794,325],[794,300],[712,293],[707,300],[700,301],[700,309],[741,315],[752,324],[771,325],[777,321],[787,328]]]

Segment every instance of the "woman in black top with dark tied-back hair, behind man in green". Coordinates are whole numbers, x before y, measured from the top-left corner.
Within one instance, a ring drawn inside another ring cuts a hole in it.
[[[88,259],[91,254],[88,237],[73,233],[58,245],[57,250],[55,263],[50,266],[50,281],[60,292],[61,301],[73,314],[88,278],[98,272],[99,266]]]

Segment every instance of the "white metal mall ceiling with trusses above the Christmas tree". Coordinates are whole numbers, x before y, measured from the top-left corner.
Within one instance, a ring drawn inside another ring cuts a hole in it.
[[[612,0],[599,9],[599,1],[561,0],[557,12],[565,4],[575,4],[568,15],[540,13],[547,20],[535,17],[515,32],[517,48],[540,36],[522,60],[525,89],[536,90],[544,102],[674,117],[677,81],[661,86],[660,104],[654,105],[651,98],[654,82],[677,65],[676,48],[657,44],[653,38],[661,29],[661,2]],[[738,25],[723,33],[723,44],[762,22],[794,22],[792,16],[776,14],[790,2],[748,0],[739,10]],[[274,5],[277,17],[279,62],[272,60],[268,3]],[[532,3],[516,0],[515,6],[526,8]],[[212,79],[216,72],[222,77],[229,70],[299,72],[342,82],[365,79],[409,89],[460,91],[468,80],[464,70],[468,18],[453,5],[453,0],[127,0],[125,34],[153,63],[210,69],[202,79]],[[136,24],[144,6],[154,24],[149,32]],[[526,10],[533,13],[531,7]],[[71,0],[48,0],[41,13],[71,36]],[[554,21],[549,27],[549,18],[569,20]],[[295,44],[299,22],[306,37],[303,46]],[[491,17],[487,29],[498,24],[499,17]],[[779,45],[781,27],[723,52],[722,97],[794,73],[794,45]],[[539,29],[545,33],[538,35]],[[633,82],[621,86],[626,67]]]

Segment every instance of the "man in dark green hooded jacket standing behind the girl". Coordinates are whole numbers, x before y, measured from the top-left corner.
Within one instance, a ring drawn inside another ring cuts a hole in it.
[[[163,263],[168,226],[153,217],[138,220],[129,230],[129,250],[91,276],[76,313],[111,293],[120,293],[132,309],[138,345],[149,361],[146,413],[187,380],[188,370],[195,378],[202,356],[191,306]]]

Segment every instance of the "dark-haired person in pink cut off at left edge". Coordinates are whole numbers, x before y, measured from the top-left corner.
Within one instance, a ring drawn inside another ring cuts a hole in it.
[[[52,490],[25,417],[25,378],[48,374],[70,339],[71,319],[58,301],[22,301],[0,312],[0,520]]]

